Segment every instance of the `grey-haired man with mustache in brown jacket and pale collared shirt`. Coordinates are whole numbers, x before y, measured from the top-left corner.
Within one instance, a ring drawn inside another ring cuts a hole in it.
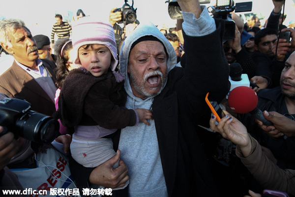
[[[51,116],[57,90],[55,63],[38,59],[36,42],[21,20],[0,21],[0,44],[14,57],[12,66],[0,76],[0,93],[22,97],[32,110]]]

